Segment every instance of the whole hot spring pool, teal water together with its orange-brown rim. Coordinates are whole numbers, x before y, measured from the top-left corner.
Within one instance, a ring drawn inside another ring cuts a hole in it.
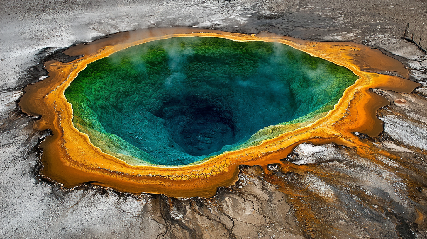
[[[370,89],[419,85],[373,72],[408,77],[361,44],[271,33],[140,29],[64,54],[77,58],[47,61],[49,77],[19,103],[40,117],[34,128],[51,132],[39,145],[40,173],[67,188],[134,194],[211,197],[234,184],[240,165],[302,172],[283,160],[301,143],[370,155],[355,132],[380,134],[375,115],[389,104]]]

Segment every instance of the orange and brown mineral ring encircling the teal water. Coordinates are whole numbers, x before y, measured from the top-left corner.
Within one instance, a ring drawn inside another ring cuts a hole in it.
[[[64,90],[87,64],[149,41],[192,36],[287,44],[312,56],[347,67],[360,79],[345,90],[333,110],[316,122],[264,140],[257,146],[225,152],[198,165],[131,166],[102,152],[91,144],[87,134],[74,127],[73,109],[65,99]],[[389,104],[383,96],[372,93],[369,89],[408,93],[419,85],[401,77],[363,71],[392,71],[404,78],[409,74],[401,62],[362,44],[313,42],[264,32],[246,35],[192,27],[139,29],[120,32],[89,44],[80,44],[64,53],[84,56],[69,63],[46,62],[50,76],[28,85],[19,103],[24,113],[41,116],[34,123],[34,128],[50,129],[53,133],[39,146],[43,149],[41,161],[44,167],[41,173],[68,188],[93,184],[134,194],[146,192],[172,197],[210,197],[215,195],[218,187],[229,186],[237,180],[238,167],[242,164],[261,165],[265,168],[268,164],[277,163],[284,169],[290,167],[293,171],[304,171],[304,166],[281,161],[295,146],[304,142],[369,147],[369,143],[362,142],[352,132],[376,137],[383,130],[382,122],[375,117],[376,112]]]

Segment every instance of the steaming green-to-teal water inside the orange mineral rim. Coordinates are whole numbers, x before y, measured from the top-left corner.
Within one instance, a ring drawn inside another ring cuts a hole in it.
[[[65,96],[76,128],[104,152],[131,164],[184,165],[265,126],[327,111],[356,79],[284,44],[181,37],[89,64]]]

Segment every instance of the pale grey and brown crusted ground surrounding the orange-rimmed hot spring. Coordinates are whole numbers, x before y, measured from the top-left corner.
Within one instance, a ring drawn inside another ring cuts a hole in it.
[[[427,40],[426,5],[398,0],[1,1],[0,238],[427,238],[427,60],[399,39],[409,22],[410,32]],[[259,167],[242,166],[233,187],[207,199],[135,197],[93,187],[66,191],[39,178],[36,145],[49,132],[34,131],[35,119],[20,113],[16,103],[23,86],[43,79],[44,61],[67,61],[61,49],[74,43],[160,26],[356,41],[393,54],[422,87],[404,94],[374,90],[391,102],[378,112],[385,130],[379,138],[361,137],[400,155],[405,164],[388,157],[373,163],[355,149],[333,144],[304,144],[285,160],[307,165],[310,173],[288,174],[270,166],[265,175]]]

